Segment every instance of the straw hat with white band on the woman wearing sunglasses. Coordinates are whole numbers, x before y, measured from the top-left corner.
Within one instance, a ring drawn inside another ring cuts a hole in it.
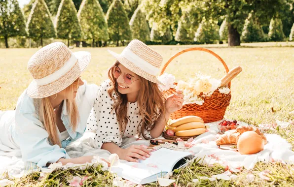
[[[162,56],[140,40],[132,40],[119,55],[108,50],[114,58],[129,70],[153,83],[162,84],[156,77]]]

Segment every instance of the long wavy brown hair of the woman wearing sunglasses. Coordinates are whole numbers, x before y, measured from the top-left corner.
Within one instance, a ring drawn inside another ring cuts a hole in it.
[[[118,66],[120,63],[116,61],[115,66]],[[111,99],[114,100],[114,105],[111,111],[115,111],[116,119],[119,124],[119,130],[121,134],[124,134],[128,121],[128,115],[126,113],[128,107],[128,99],[126,94],[120,94],[117,90],[117,82],[111,72],[111,68],[108,71],[108,77],[111,81],[111,86],[108,90],[108,93]],[[139,76],[141,83],[141,89],[138,95],[138,106],[139,114],[142,116],[142,121],[137,126],[137,134],[140,137],[139,126],[142,124],[141,132],[145,139],[148,139],[146,134],[144,134],[144,129],[150,131],[154,128],[155,121],[160,114],[165,113],[165,97],[163,93],[159,90],[158,85],[147,79]],[[113,93],[117,95],[117,98],[114,97]]]

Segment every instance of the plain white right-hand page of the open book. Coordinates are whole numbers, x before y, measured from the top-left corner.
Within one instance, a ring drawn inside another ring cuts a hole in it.
[[[160,148],[159,150],[152,152],[152,155],[146,160],[139,161],[147,166],[158,168],[163,172],[170,172],[180,159],[189,155],[191,155],[189,152]]]

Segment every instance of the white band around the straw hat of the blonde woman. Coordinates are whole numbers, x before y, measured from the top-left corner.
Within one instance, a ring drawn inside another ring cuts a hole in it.
[[[59,79],[60,77],[65,75],[74,66],[74,64],[76,62],[77,62],[77,58],[72,53],[71,58],[67,62],[65,62],[65,64],[60,69],[58,69],[54,73],[52,73],[44,78],[34,79],[34,81],[39,86],[43,86],[43,85],[47,85],[49,83],[52,83],[53,81],[56,81],[57,79]]]

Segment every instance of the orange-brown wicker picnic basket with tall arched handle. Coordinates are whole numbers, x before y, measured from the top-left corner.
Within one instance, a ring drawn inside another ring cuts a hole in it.
[[[166,62],[160,72],[160,75],[162,75],[166,69],[166,67],[169,65],[170,62],[172,62],[176,57],[189,52],[189,51],[204,51],[209,54],[212,54],[215,56],[219,61],[221,61],[222,65],[225,68],[226,73],[229,71],[226,63],[221,59],[219,55],[212,52],[209,49],[201,48],[201,47],[193,47],[188,48],[183,51],[178,52],[175,54],[168,62]],[[177,83],[174,83],[177,85]],[[230,88],[231,82],[229,82],[228,87]],[[168,91],[164,92],[165,96],[174,94],[176,92],[175,89],[169,89]],[[204,103],[202,105],[198,105],[195,103],[192,104],[185,104],[181,110],[178,110],[174,112],[171,115],[171,119],[179,119],[185,116],[198,116],[203,119],[204,123],[209,122],[217,122],[223,119],[225,110],[227,106],[230,103],[231,99],[231,92],[229,94],[221,94],[219,90],[217,89],[211,96],[202,97],[202,94],[200,94],[200,97],[204,100]]]

